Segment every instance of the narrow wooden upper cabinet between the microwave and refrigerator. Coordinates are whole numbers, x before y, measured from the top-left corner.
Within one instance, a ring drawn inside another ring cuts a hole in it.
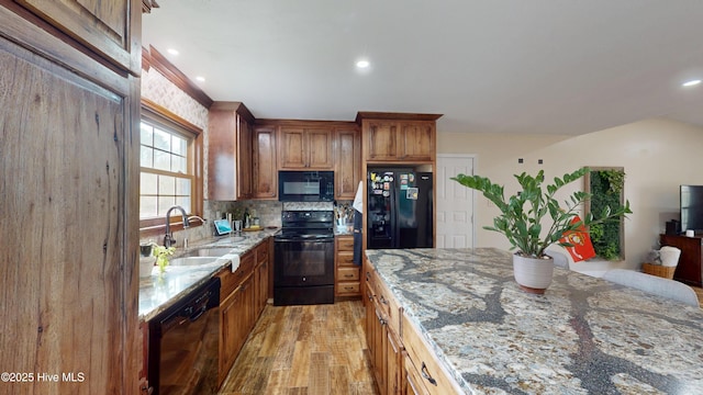
[[[335,199],[354,200],[361,181],[361,133],[356,128],[335,131]]]

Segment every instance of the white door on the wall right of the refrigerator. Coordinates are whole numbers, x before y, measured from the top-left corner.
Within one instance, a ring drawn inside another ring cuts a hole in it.
[[[437,248],[473,248],[473,190],[450,180],[473,174],[473,157],[437,155]]]

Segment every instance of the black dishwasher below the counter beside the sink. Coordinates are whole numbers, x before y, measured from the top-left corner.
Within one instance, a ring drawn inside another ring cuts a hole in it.
[[[213,278],[149,320],[154,394],[216,394],[220,279]]]

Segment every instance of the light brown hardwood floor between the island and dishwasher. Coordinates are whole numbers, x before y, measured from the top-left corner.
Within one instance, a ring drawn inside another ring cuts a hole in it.
[[[377,394],[364,305],[267,305],[220,394]]]

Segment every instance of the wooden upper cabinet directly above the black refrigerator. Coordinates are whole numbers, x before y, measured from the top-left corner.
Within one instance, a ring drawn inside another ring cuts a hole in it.
[[[369,162],[433,162],[437,114],[360,112],[364,158]]]

